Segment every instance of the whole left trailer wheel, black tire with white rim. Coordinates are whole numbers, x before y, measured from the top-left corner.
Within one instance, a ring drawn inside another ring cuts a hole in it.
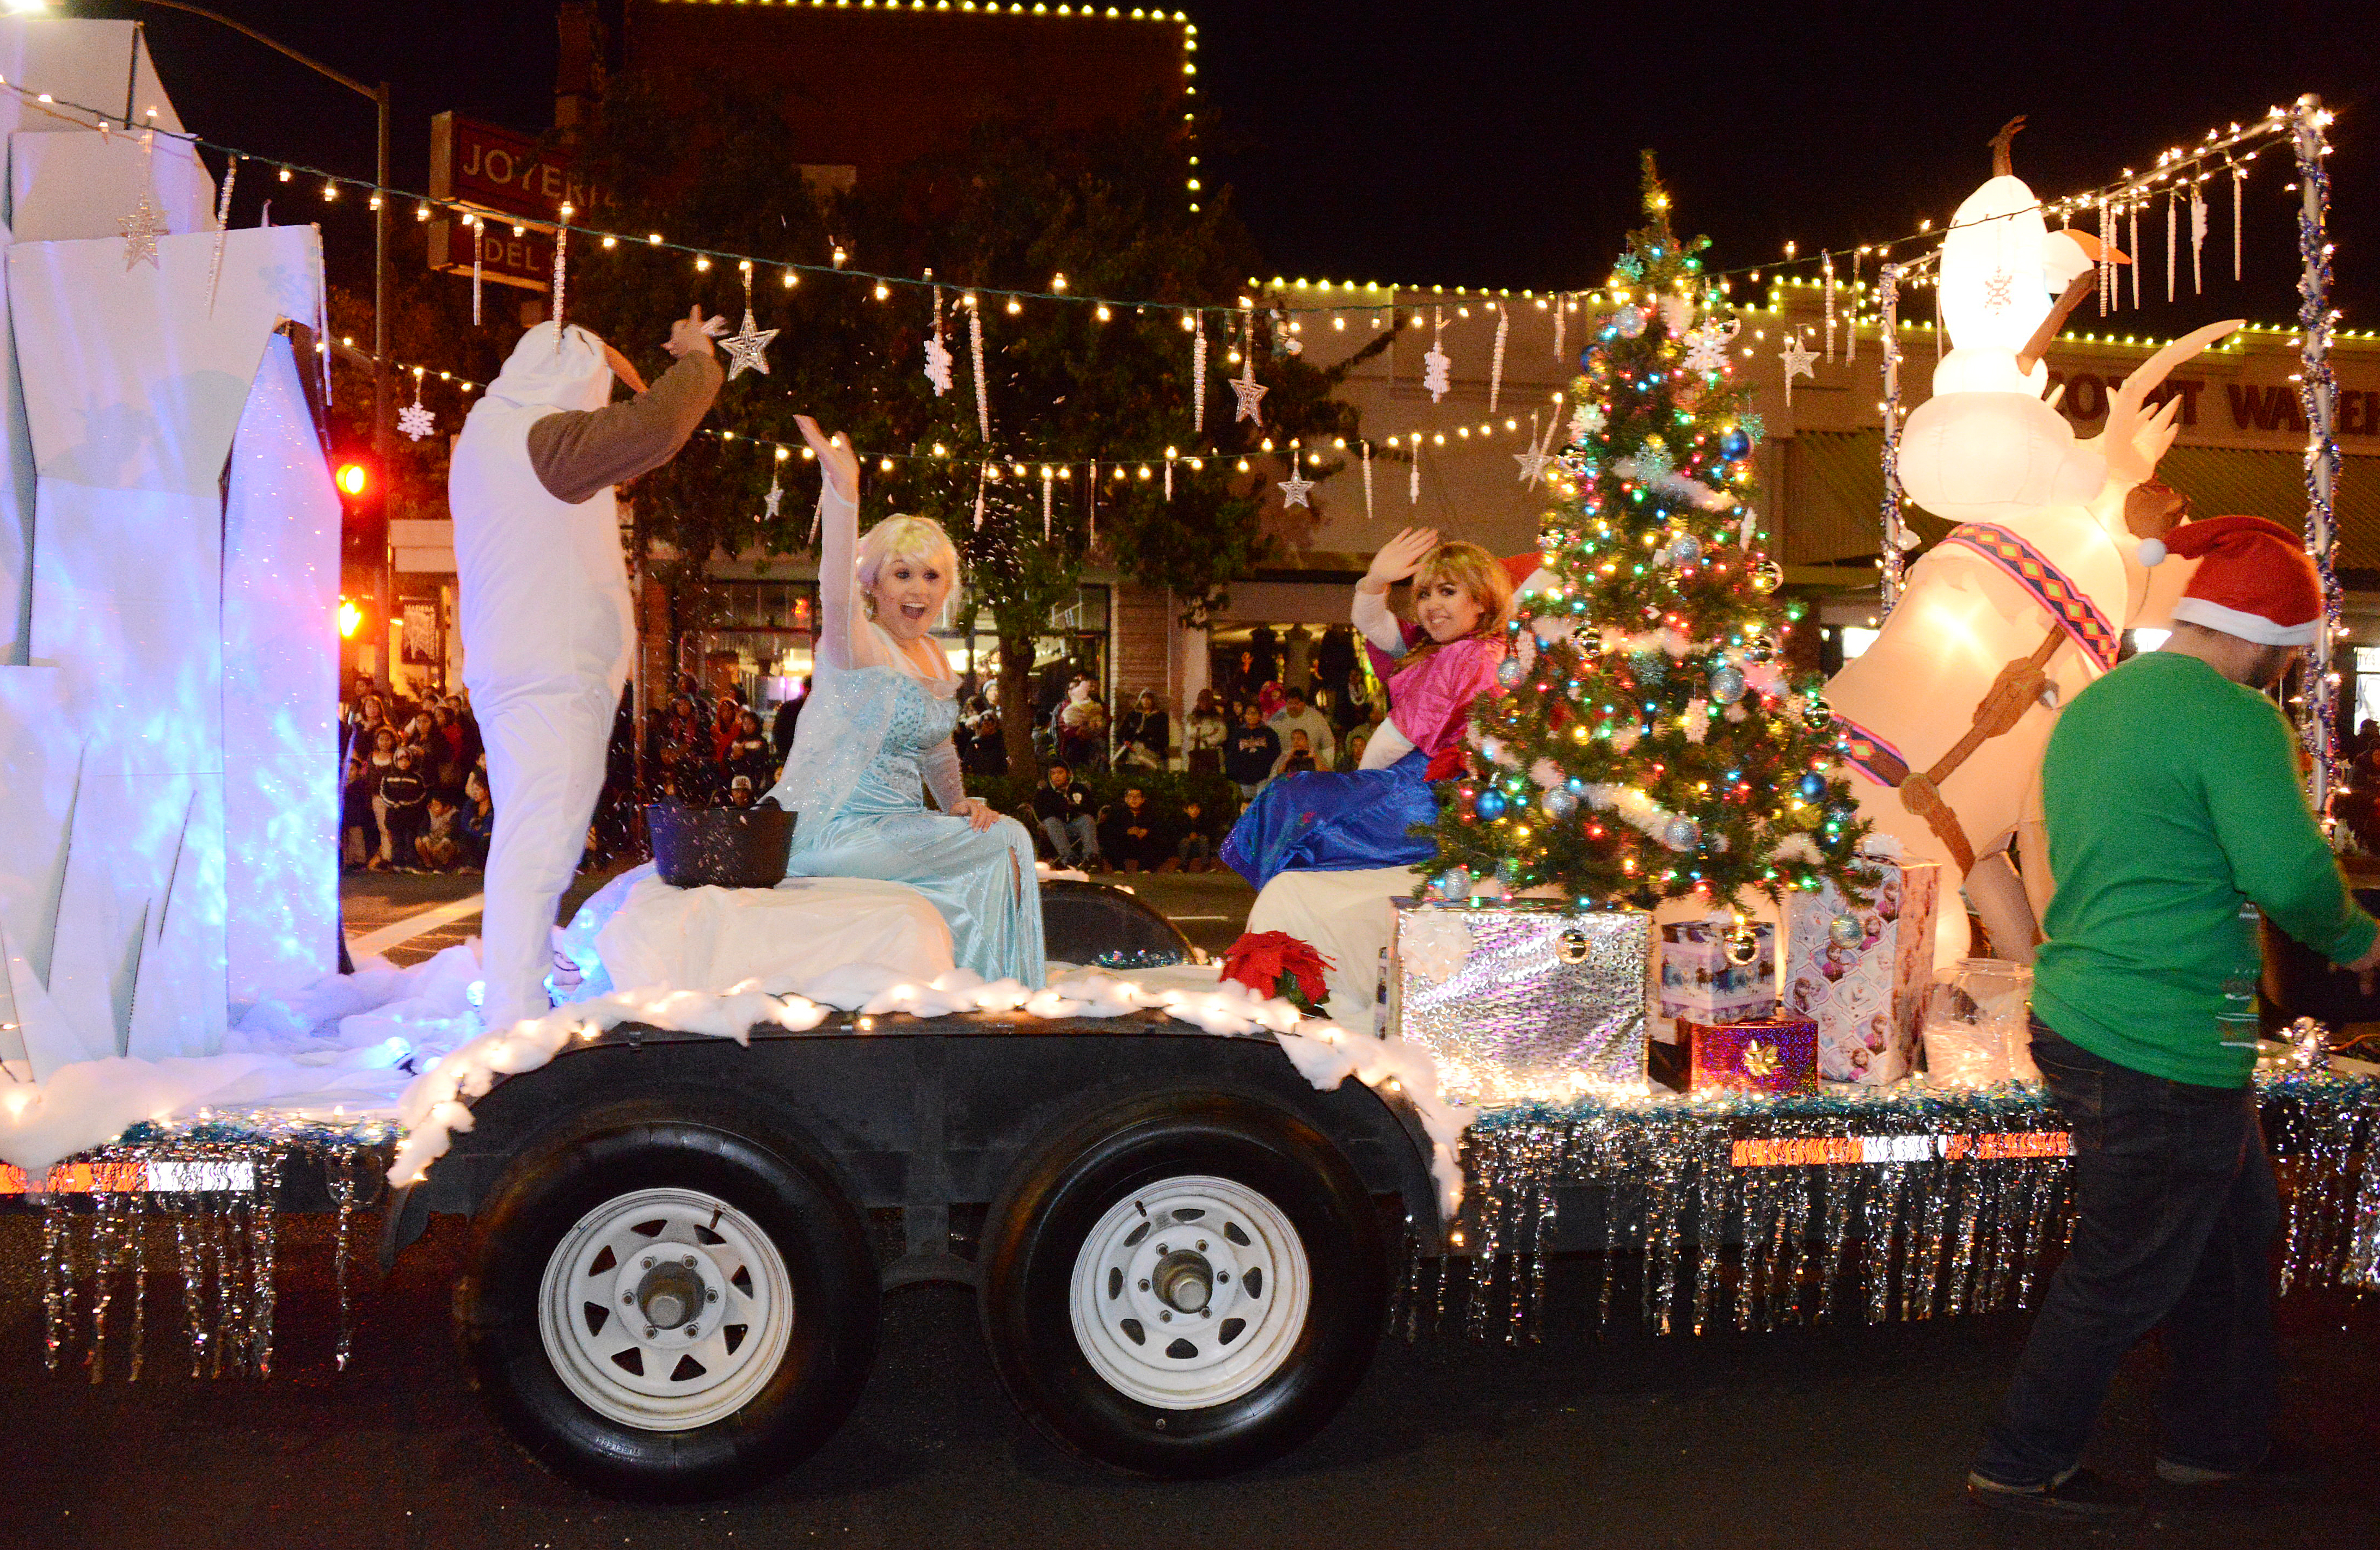
[[[685,1502],[776,1479],[835,1433],[878,1295],[823,1167],[750,1114],[652,1100],[514,1162],[455,1321],[471,1386],[531,1457],[588,1490]]]

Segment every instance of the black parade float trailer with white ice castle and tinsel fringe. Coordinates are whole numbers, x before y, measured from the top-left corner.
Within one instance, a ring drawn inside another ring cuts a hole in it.
[[[169,1343],[150,1283],[178,1281],[171,1364],[267,1376],[290,1210],[338,1214],[345,1364],[352,1219],[381,1212],[388,1262],[459,1214],[497,1421],[585,1486],[700,1498],[807,1457],[916,1281],[978,1288],[1042,1431],[1157,1476],[1295,1448],[1383,1329],[1540,1333],[1566,1250],[1599,1255],[1597,1317],[1626,1290],[1664,1331],[2037,1290],[2066,1221],[2037,1088],[1821,1088],[1799,1024],[1659,1090],[1668,986],[1630,910],[1407,910],[1385,1031],[1178,962],[1161,919],[1066,883],[1045,990],[876,955],[745,974],[728,921],[800,890],[659,881],[631,900],[707,912],[681,933],[707,967],[600,950],[631,988],[512,1029],[476,1026],[469,948],[333,974],[317,236],[219,231],[188,143],[140,133],[174,119],[138,29],[17,21],[0,60],[0,1181],[43,1212],[52,1369],[138,1379]],[[826,893],[812,936],[864,926]],[[869,910],[909,952],[914,905]],[[1709,945],[1690,926],[1673,962]],[[1780,962],[1849,955],[1835,979],[1883,974],[1906,1031],[1883,931],[1783,926]],[[2263,1102],[2285,1281],[2373,1283],[2370,1083],[2275,1071]]]

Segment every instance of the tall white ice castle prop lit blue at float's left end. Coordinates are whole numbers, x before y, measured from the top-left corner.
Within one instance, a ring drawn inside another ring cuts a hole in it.
[[[5,1090],[336,967],[338,495],[319,233],[228,233],[209,305],[207,169],[67,107],[181,129],[140,29],[0,21],[0,76]]]

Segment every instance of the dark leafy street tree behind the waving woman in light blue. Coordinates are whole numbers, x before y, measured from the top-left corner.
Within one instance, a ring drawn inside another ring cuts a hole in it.
[[[864,498],[871,512],[935,517],[959,543],[1000,636],[1002,702],[1012,707],[1002,724],[1021,769],[1031,724],[1014,707],[1031,705],[1033,643],[1052,610],[1073,598],[1095,548],[1135,581],[1171,588],[1188,617],[1202,617],[1230,576],[1261,557],[1259,512],[1290,443],[1321,457],[1304,469],[1309,479],[1342,467],[1333,452],[1357,424],[1330,393],[1354,362],[1316,369],[1276,355],[1259,312],[1264,424],[1233,419],[1226,374],[1245,343],[1240,276],[1254,269],[1254,250],[1228,193],[1200,214],[1183,210],[1183,145],[1157,114],[1100,136],[983,124],[964,148],[881,186],[814,195],[788,176],[764,100],[707,90],[707,112],[690,119],[671,110],[685,100],[671,81],[616,79],[581,145],[590,179],[616,200],[605,210],[609,226],[762,257],[752,274],[757,326],[781,331],[769,374],[747,371],[721,393],[716,424],[733,438],[702,438],[638,483],[635,536],[674,555],[662,574],[681,602],[719,550],[807,548],[809,479],[788,488],[774,519],[762,507],[771,481],[802,462],[781,462],[752,443],[800,445],[797,412],[850,433],[873,481]],[[838,245],[854,269],[931,271],[942,286],[950,395],[938,398],[923,376],[931,290],[890,286],[878,295],[866,279],[816,274],[788,288],[788,271],[766,262],[816,264]],[[1169,305],[1111,307],[1102,319],[1083,302],[1026,295],[1012,310],[1007,295],[990,295],[1059,288]],[[990,438],[976,417],[969,298],[983,324]],[[738,321],[743,276],[731,262],[697,269],[683,252],[633,243],[593,250],[574,267],[571,317],[631,355],[650,352],[645,336],[657,340],[690,300]],[[1190,417],[1183,307],[1221,310],[1204,312],[1204,431]],[[1373,350],[1390,338],[1385,331]],[[1169,450],[1171,498],[1161,476]],[[1090,460],[1102,460],[1095,500],[1083,488]],[[1042,464],[1069,469],[1052,479],[1047,533]]]

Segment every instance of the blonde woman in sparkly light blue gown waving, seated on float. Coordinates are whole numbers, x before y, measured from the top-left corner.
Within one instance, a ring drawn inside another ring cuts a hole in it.
[[[1033,838],[966,795],[950,740],[959,681],[931,631],[959,555],[923,517],[885,517],[862,543],[859,460],[807,414],[800,426],[826,486],[816,681],[769,793],[800,814],[785,876],[907,883],[950,921],[962,969],[1040,988]],[[940,812],[926,810],[921,788]]]

